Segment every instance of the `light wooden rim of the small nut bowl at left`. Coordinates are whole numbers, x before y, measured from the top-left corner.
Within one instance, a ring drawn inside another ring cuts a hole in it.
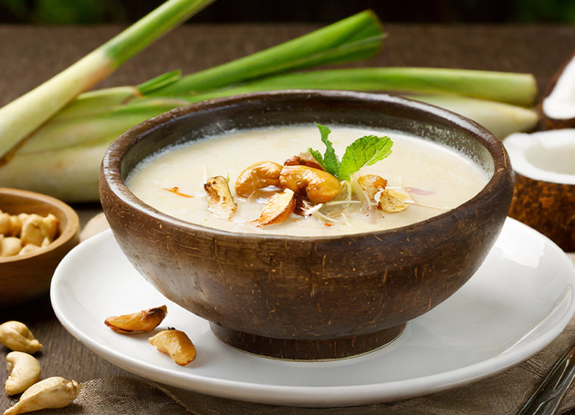
[[[33,258],[37,256],[42,256],[52,251],[56,250],[60,246],[67,244],[70,239],[74,237],[76,233],[79,231],[79,217],[78,213],[69,206],[67,203],[60,201],[52,196],[48,196],[47,194],[38,193],[38,192],[30,192],[21,189],[13,189],[8,187],[0,187],[0,194],[6,195],[16,195],[18,197],[26,198],[29,200],[35,200],[37,202],[42,202],[47,205],[52,205],[60,210],[64,215],[67,217],[66,227],[62,230],[62,232],[57,236],[57,238],[52,241],[49,245],[47,245],[44,249],[39,252],[31,252],[27,254],[17,254],[13,256],[6,256],[0,258],[0,265],[14,263],[17,261],[22,261],[28,258]]]

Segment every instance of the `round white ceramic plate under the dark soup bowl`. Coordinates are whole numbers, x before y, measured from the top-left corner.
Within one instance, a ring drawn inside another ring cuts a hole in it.
[[[541,234],[507,219],[486,262],[454,296],[408,324],[390,346],[359,358],[287,362],[230,348],[208,323],[164,298],[132,268],[112,234],[73,249],[58,266],[52,304],[88,348],[136,375],[229,399],[333,407],[404,399],[493,375],[549,344],[573,314],[575,271]],[[161,327],[192,338],[197,358],[178,367],[149,335],[123,336],[107,316],[168,306]]]

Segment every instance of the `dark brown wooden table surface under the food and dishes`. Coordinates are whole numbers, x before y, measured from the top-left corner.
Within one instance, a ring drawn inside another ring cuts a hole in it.
[[[135,85],[163,72],[183,73],[224,63],[271,47],[315,26],[183,26],[149,47],[101,83]],[[119,26],[0,26],[0,105],[4,105],[120,31]],[[354,66],[463,67],[531,72],[546,88],[575,52],[575,27],[567,26],[403,26],[385,27],[389,37],[379,56]],[[2,183],[0,183],[0,186]],[[85,223],[99,205],[76,206]],[[43,377],[84,381],[127,374],[85,348],[60,325],[46,296],[26,306],[0,310],[0,322],[25,322],[44,344],[38,358]],[[0,348],[0,382],[6,379]],[[0,409],[10,399],[0,393]]]

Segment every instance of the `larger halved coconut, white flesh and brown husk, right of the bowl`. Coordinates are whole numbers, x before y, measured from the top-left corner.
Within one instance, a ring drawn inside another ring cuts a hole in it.
[[[509,216],[575,251],[575,130],[511,134],[503,141],[516,172]]]

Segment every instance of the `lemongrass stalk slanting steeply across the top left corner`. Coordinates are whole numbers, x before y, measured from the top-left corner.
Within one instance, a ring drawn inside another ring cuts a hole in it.
[[[0,109],[0,158],[78,94],[213,1],[167,1],[54,78]]]

